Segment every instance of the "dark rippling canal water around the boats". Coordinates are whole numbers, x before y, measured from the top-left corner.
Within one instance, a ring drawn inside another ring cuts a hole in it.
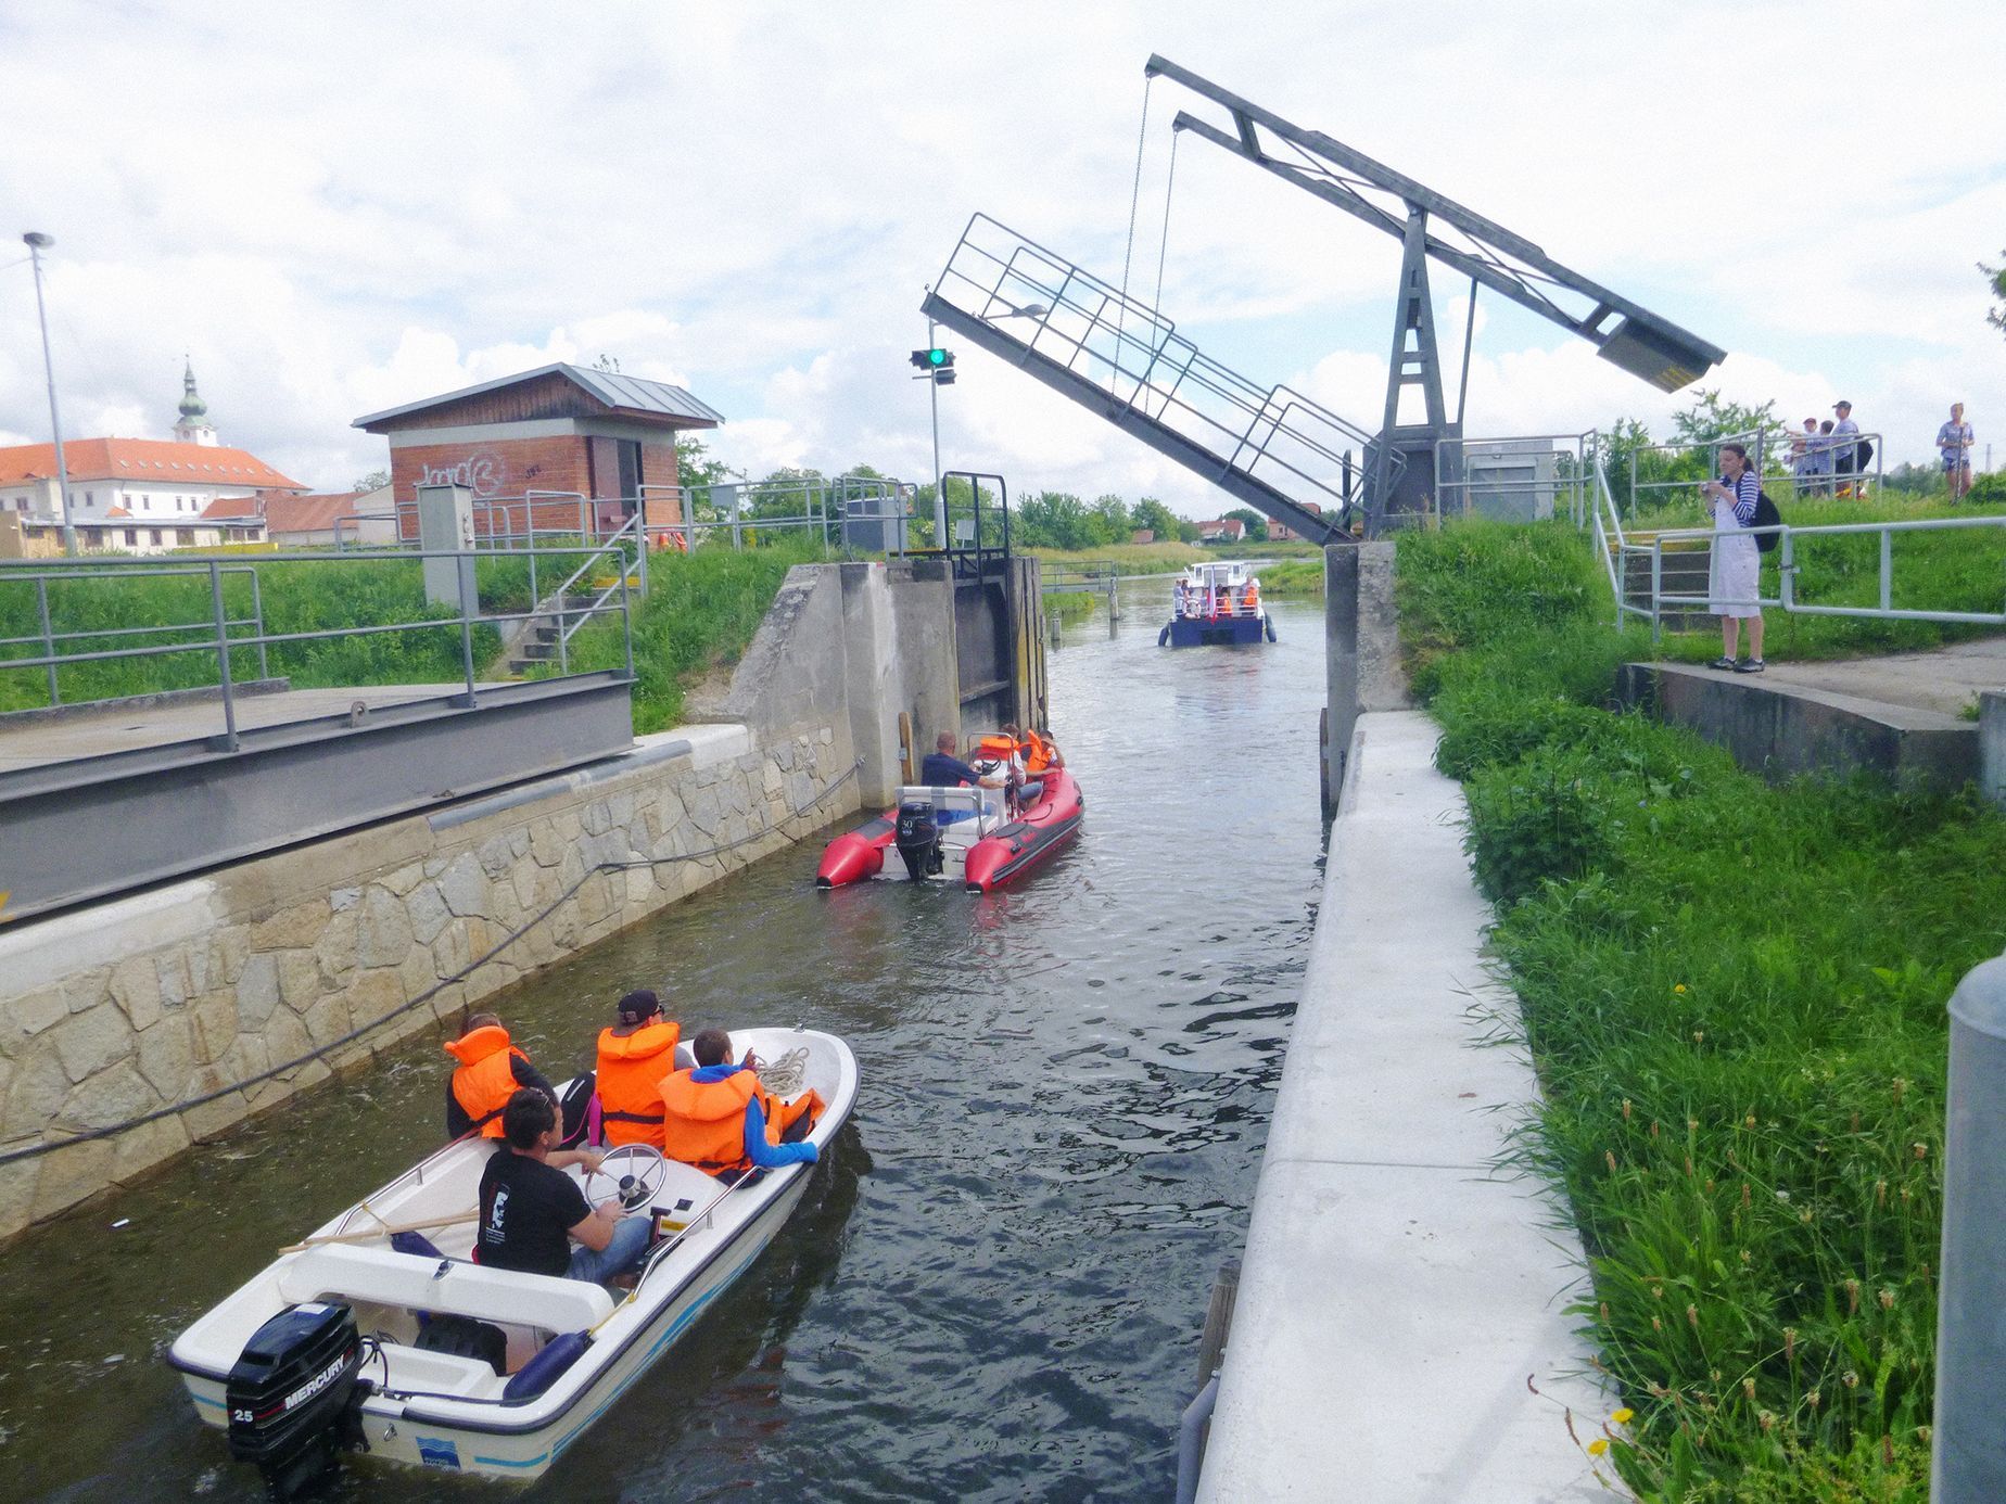
[[[794,1221],[532,1498],[1169,1498],[1314,918],[1324,632],[1276,602],[1274,646],[1169,652],[1167,602],[1125,586],[1051,650],[1087,822],[1021,888],[816,892],[812,838],[497,1001],[552,1077],[642,985],[863,1071]],[[415,1041],[0,1255],[0,1498],[261,1498],[166,1346],[433,1147],[445,1067]],[[493,1488],[361,1464],[331,1496]]]

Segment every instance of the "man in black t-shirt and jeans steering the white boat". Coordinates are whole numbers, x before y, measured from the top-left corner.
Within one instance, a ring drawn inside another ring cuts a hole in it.
[[[550,1097],[522,1089],[501,1111],[504,1143],[481,1171],[473,1257],[489,1269],[606,1281],[648,1251],[650,1219],[622,1217],[620,1201],[586,1205],[568,1165],[600,1167],[592,1149],[558,1149]],[[572,1247],[578,1239],[580,1247]]]

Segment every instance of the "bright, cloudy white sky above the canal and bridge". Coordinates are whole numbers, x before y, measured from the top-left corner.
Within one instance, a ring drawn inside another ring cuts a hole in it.
[[[1172,178],[1172,116],[1224,116],[1145,88],[1159,52],[1725,347],[1703,385],[1733,401],[1848,397],[1890,461],[1926,461],[1964,399],[2006,465],[1988,46],[1968,4],[1852,0],[8,0],[0,443],[48,437],[6,249],[42,231],[66,435],[169,437],[187,355],[225,443],[345,489],[387,463],[363,413],[612,357],[722,411],[706,443],[752,477],[925,479],[907,353],[975,213],[1105,283],[1127,263],[1208,355],[1376,429],[1398,245],[1190,134]],[[1434,277],[1450,405],[1466,287]],[[1691,399],[1490,293],[1472,345],[1470,435],[1663,433]],[[945,467],[1230,505],[957,355]]]

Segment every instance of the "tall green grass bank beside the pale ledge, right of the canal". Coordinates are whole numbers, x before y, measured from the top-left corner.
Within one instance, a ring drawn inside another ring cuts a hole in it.
[[[2006,947],[2006,818],[1866,776],[1771,788],[1609,712],[1649,644],[1607,626],[1565,525],[1398,547],[1545,1087],[1513,1155],[1573,1201],[1577,1313],[1635,1410],[1599,1466],[1645,1500],[1922,1504],[1944,1003]]]

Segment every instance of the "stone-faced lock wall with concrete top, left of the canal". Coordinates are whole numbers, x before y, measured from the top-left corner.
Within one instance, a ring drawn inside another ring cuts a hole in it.
[[[0,1241],[887,800],[901,712],[961,732],[953,594],[937,561],[798,566],[698,724],[0,928],[0,1155],[162,1113],[0,1163]]]

